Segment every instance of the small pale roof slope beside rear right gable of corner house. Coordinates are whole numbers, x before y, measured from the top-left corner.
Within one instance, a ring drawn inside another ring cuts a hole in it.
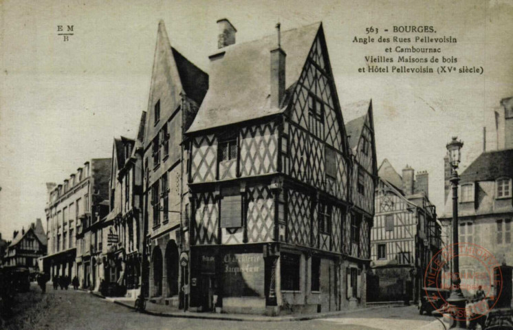
[[[363,125],[371,106],[371,100],[360,100],[342,106],[342,115],[344,116],[345,128],[349,148],[354,149],[358,146],[360,135],[362,135]]]

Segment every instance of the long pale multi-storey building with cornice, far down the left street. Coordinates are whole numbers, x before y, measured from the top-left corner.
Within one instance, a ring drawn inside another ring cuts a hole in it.
[[[99,285],[98,245],[95,224],[108,211],[110,158],[90,159],[63,184],[47,184],[45,208],[48,249],[45,272],[54,276],[77,276],[82,287]]]

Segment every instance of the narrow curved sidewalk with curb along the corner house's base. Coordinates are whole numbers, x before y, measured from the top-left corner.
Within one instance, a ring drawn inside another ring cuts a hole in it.
[[[118,300],[109,300],[116,305],[124,306],[129,309],[134,309],[135,307],[124,303]],[[314,320],[318,318],[330,318],[336,316],[342,316],[345,314],[357,313],[358,311],[370,311],[373,309],[382,309],[382,308],[390,308],[388,306],[380,306],[380,307],[367,307],[367,308],[359,308],[359,309],[347,309],[345,311],[334,311],[329,313],[320,313],[320,314],[311,314],[306,316],[258,316],[258,317],[245,317],[241,318],[238,316],[208,316],[207,314],[193,314],[190,312],[179,312],[179,313],[162,313],[149,311],[146,309],[144,314],[149,314],[151,316],[160,316],[166,318],[196,318],[201,320],[221,320],[221,321],[239,321],[239,322],[291,322],[291,321],[307,321]],[[221,314],[222,315],[222,314]]]

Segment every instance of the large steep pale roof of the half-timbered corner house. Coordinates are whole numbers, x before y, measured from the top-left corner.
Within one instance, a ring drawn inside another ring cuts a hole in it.
[[[281,32],[285,89],[296,83],[321,23]],[[210,88],[188,133],[282,113],[270,105],[270,51],[276,33],[257,41],[221,48],[223,58],[211,63]]]

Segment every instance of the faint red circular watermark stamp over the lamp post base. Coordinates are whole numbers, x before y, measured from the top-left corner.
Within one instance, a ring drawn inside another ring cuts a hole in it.
[[[454,272],[455,257],[459,272]],[[503,276],[492,252],[481,245],[461,242],[439,250],[424,274],[424,294],[433,309],[443,307],[452,320],[472,321],[486,316],[501,296]],[[449,294],[461,290],[455,303]],[[463,297],[463,298],[461,298]]]

